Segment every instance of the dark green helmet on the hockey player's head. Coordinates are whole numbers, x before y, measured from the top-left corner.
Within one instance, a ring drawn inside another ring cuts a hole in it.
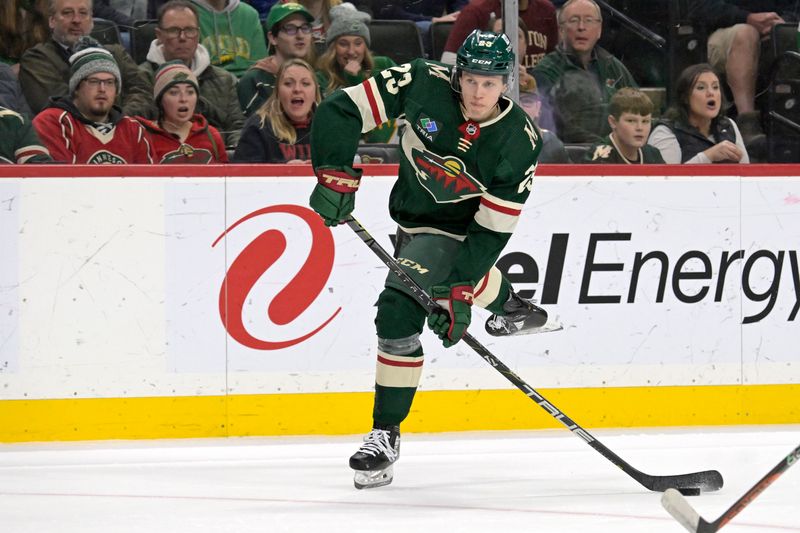
[[[514,78],[515,58],[511,41],[504,33],[474,30],[456,53],[456,65],[450,74],[450,86],[461,92],[461,73],[503,76],[503,83]]]

